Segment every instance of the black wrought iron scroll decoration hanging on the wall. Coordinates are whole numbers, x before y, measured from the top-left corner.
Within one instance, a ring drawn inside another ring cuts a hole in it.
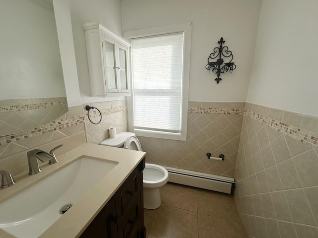
[[[220,78],[221,73],[227,73],[227,72],[232,73],[233,70],[236,69],[237,65],[235,65],[234,62],[232,62],[233,60],[232,51],[229,51],[229,48],[227,46],[222,45],[225,43],[225,41],[223,40],[223,37],[221,37],[218,43],[220,44],[220,46],[214,48],[213,52],[210,54],[208,58],[208,64],[205,65],[205,68],[208,69],[209,71],[211,70],[212,72],[218,75],[218,77],[215,80],[219,84],[219,82],[222,80],[222,78]],[[230,58],[231,60],[227,63],[224,63],[222,56],[226,58]],[[216,61],[213,61],[213,60],[216,60]]]

